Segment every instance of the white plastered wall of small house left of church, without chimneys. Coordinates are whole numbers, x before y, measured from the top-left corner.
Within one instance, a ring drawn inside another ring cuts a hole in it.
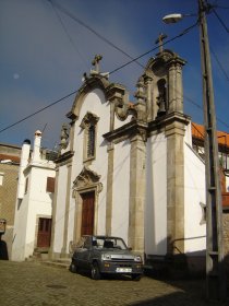
[[[51,217],[52,195],[46,192],[47,177],[55,177],[53,168],[32,166],[28,174],[27,193],[15,215],[12,260],[25,260],[36,247],[37,216]]]

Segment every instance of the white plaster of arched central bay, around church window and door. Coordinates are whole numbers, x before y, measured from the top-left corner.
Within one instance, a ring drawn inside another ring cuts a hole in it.
[[[96,203],[95,229],[96,234],[105,234],[106,222],[106,191],[107,191],[107,143],[103,137],[104,133],[109,131],[110,125],[110,107],[105,99],[104,93],[96,89],[85,96],[83,102],[79,120],[75,122],[74,131],[74,146],[75,152],[73,157],[72,168],[72,186],[75,178],[84,167],[83,162],[83,148],[84,148],[84,130],[80,127],[82,119],[87,114],[93,113],[99,117],[97,122],[97,139],[96,139],[96,157],[88,163],[89,169],[96,172],[100,176],[103,190],[98,195],[98,202]],[[71,195],[70,195],[71,197]],[[75,199],[73,199],[75,201]],[[73,205],[73,203],[71,204]],[[76,203],[77,205],[77,203]],[[73,219],[71,217],[72,228],[70,228],[69,239],[73,229]]]

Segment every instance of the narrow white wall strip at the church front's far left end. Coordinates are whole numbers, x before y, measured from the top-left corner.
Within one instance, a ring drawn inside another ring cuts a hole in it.
[[[59,254],[63,245],[67,181],[68,166],[64,165],[59,168],[56,219],[52,220],[55,222],[53,252]]]

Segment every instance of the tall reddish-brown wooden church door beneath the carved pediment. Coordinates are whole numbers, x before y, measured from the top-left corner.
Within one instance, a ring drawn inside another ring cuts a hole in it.
[[[83,208],[82,208],[81,235],[93,235],[95,192],[83,193],[82,199],[83,199]]]

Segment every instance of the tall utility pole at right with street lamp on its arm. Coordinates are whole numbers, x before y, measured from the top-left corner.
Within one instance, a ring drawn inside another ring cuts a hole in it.
[[[222,208],[219,181],[219,157],[216,133],[216,114],[206,12],[212,5],[198,1],[198,23],[201,38],[201,62],[203,78],[203,109],[205,125],[205,176],[206,176],[206,296],[209,299],[226,298],[224,270]],[[169,14],[165,23],[176,23],[185,17],[182,14]]]

